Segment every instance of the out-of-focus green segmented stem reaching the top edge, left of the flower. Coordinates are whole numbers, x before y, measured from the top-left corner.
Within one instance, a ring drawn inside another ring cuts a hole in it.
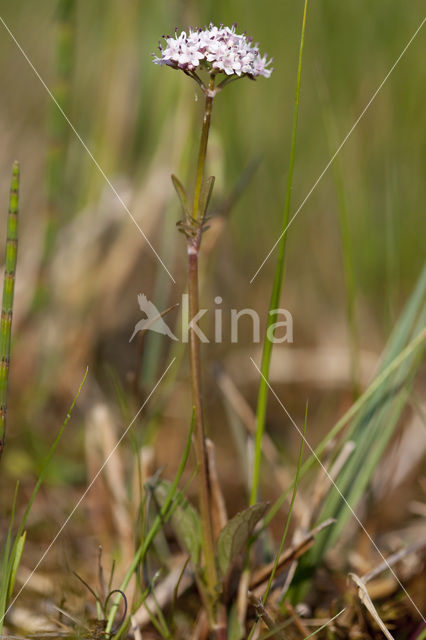
[[[65,113],[69,112],[74,61],[75,0],[58,0],[55,49],[55,83],[52,93]],[[52,101],[48,116],[49,148],[46,157],[46,211],[43,253],[33,308],[43,308],[49,299],[48,270],[56,244],[61,217],[65,158],[69,126]]]

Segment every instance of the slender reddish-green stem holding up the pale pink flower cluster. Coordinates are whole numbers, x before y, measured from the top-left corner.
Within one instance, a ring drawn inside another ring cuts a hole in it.
[[[206,162],[207,142],[209,137],[211,112],[213,105],[214,75],[210,77],[208,93],[206,94],[203,128],[201,132],[200,149],[198,153],[197,173],[195,177],[194,201],[192,209],[193,222],[197,223],[194,237],[188,237],[188,299],[190,319],[195,318],[199,311],[198,304],[198,255],[201,244],[201,226],[198,220],[199,202],[203,184],[204,167]],[[203,553],[206,568],[206,581],[212,601],[216,598],[217,570],[214,548],[214,534],[211,509],[210,480],[205,443],[203,401],[201,390],[201,358],[200,339],[189,325],[189,361],[191,369],[192,401],[195,412],[195,453],[200,470],[199,502],[203,535]]]

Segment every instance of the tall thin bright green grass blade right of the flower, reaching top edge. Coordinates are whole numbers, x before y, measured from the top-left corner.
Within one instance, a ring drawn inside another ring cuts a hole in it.
[[[281,289],[284,279],[284,266],[285,266],[285,249],[287,241],[287,225],[290,218],[290,203],[291,203],[291,189],[293,184],[293,169],[294,169],[294,157],[296,150],[296,134],[297,134],[297,120],[299,116],[299,95],[300,95],[300,79],[302,75],[302,56],[303,56],[303,44],[305,39],[305,26],[306,26],[306,13],[308,8],[308,0],[305,0],[305,7],[303,10],[302,32],[300,37],[299,48],[299,64],[297,68],[297,81],[296,81],[296,97],[294,103],[294,115],[293,115],[293,131],[291,136],[291,148],[290,148],[290,162],[288,167],[288,180],[286,200],[284,206],[283,216],[283,235],[279,244],[278,260],[275,269],[274,284],[272,287],[271,302],[269,305],[270,313],[268,314],[265,342],[263,346],[262,365],[259,382],[259,393],[257,398],[257,412],[256,412],[256,445],[255,445],[255,459],[253,466],[253,482],[250,494],[250,504],[255,504],[257,501],[257,493],[259,488],[259,476],[260,476],[260,462],[262,456],[262,438],[265,429],[266,419],[266,406],[268,399],[268,381],[269,381],[269,366],[272,356],[272,340],[269,337],[269,329],[277,320],[277,313],[274,311],[278,309],[280,304]]]

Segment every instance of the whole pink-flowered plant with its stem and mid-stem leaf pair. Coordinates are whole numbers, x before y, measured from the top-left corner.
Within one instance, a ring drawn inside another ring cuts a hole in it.
[[[207,209],[214,185],[214,176],[204,178],[213,100],[226,85],[240,78],[248,77],[252,80],[258,76],[269,78],[272,73],[272,69],[268,68],[271,60],[268,60],[266,55],[260,54],[257,44],[253,44],[251,38],[246,34],[237,34],[235,24],[232,27],[223,25],[217,27],[210,24],[205,29],[190,29],[188,32],[182,31],[180,34],[176,31],[174,37],[165,36],[164,39],[165,45],[160,44],[160,55],[154,57],[154,63],[183,71],[197,82],[205,96],[192,198],[181,181],[176,176],[172,176],[183,209],[183,219],[178,223],[178,226],[186,237],[187,245],[189,315],[190,318],[196,318],[199,312],[198,257],[202,235],[206,229]],[[204,559],[202,575],[204,588],[202,590],[210,614],[210,623],[219,629],[222,626],[218,621],[221,616],[217,610],[220,587],[216,565],[212,496],[204,429],[200,339],[194,327],[191,326],[191,322],[189,347],[192,401],[195,415],[195,452],[200,470],[199,504]],[[218,631],[219,637],[220,633]]]

